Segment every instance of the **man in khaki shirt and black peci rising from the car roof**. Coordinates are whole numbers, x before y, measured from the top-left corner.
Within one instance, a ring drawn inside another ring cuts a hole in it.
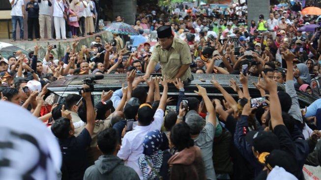
[[[160,62],[162,75],[166,76],[168,82],[172,83],[176,78],[180,78],[182,81],[193,80],[189,67],[192,58],[188,44],[174,38],[171,26],[158,28],[157,36],[159,43],[152,51],[144,78],[148,78],[155,65]]]

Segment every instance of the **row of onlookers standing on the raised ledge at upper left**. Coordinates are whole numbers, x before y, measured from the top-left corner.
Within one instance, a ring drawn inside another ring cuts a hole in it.
[[[52,40],[52,20],[56,40],[92,35],[100,31],[97,0],[9,0],[11,3],[12,40],[16,41],[16,28],[19,22],[20,40],[24,41],[24,19],[27,15],[28,41],[33,39]],[[51,7],[53,13],[51,13]],[[46,27],[46,29],[45,29]],[[46,30],[46,36],[45,36]],[[33,32],[34,37],[33,38]]]

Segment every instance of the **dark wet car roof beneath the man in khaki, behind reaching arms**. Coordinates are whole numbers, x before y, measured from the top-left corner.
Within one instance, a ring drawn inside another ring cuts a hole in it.
[[[138,76],[142,76],[144,74],[137,74]],[[154,76],[156,74],[153,74]],[[103,79],[96,80],[94,84],[94,92],[93,94],[101,94],[102,90],[119,90],[122,87],[122,84],[127,86],[126,74],[104,74]],[[161,76],[161,74],[158,74]],[[185,95],[186,96],[197,96],[194,90],[197,90],[196,84],[204,87],[207,90],[207,94],[210,97],[220,98],[222,97],[222,93],[217,90],[211,84],[212,74],[193,74],[194,80],[191,82],[184,83]],[[234,79],[238,86],[242,89],[242,85],[239,82],[238,75],[232,74],[215,74],[214,75],[218,83],[234,98],[237,98],[238,95],[234,90],[230,87],[230,79]],[[84,80],[90,77],[95,77],[95,75],[74,75],[74,76],[65,76],[63,79],[59,79],[57,81],[52,82],[47,88],[52,92],[58,94],[59,96],[66,96],[70,93],[79,93]],[[260,91],[255,88],[252,82],[258,82],[258,77],[249,76],[248,77],[248,89],[252,98],[261,97]],[[139,86],[148,88],[147,84],[141,83]],[[284,89],[284,85],[280,85]],[[160,91],[162,92],[162,86],[160,86]],[[317,97],[311,96],[305,92],[296,90],[300,106],[303,108],[308,106],[313,101],[317,100]],[[175,88],[173,84],[169,84],[168,95],[177,96],[178,90]]]

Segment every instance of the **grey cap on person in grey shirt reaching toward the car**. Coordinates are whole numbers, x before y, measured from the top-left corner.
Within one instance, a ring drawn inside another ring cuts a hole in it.
[[[186,114],[185,122],[191,128],[191,134],[196,135],[200,134],[203,129],[205,120],[197,114],[195,110],[191,110]]]

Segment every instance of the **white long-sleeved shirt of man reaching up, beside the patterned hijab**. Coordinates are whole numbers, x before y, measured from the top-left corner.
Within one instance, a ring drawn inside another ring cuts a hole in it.
[[[143,180],[143,174],[138,166],[138,159],[143,155],[143,142],[148,132],[160,130],[163,124],[164,111],[157,109],[154,115],[154,121],[147,126],[136,126],[132,131],[125,134],[122,139],[122,145],[117,153],[117,156],[125,160],[125,165],[133,168],[139,178]]]

